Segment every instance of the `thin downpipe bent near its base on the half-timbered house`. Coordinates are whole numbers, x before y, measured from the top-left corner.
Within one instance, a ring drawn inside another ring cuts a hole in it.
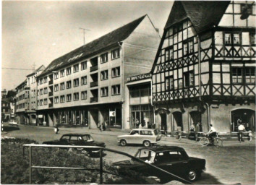
[[[197,38],[198,38],[198,72],[199,72],[199,75],[198,75],[198,82],[199,82],[199,100],[204,103],[207,107],[207,113],[208,113],[208,129],[210,128],[210,106],[208,103],[204,102],[201,98],[201,51],[200,51],[200,46],[201,46],[201,43],[200,43],[200,37],[199,35],[197,35]]]

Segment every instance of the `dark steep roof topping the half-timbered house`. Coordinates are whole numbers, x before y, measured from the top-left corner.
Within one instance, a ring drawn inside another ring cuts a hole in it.
[[[218,25],[230,1],[175,1],[166,28],[188,17],[197,33]]]

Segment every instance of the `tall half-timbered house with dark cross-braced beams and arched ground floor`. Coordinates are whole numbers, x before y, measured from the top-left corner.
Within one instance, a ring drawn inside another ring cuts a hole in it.
[[[153,65],[160,129],[255,131],[255,2],[175,1]]]

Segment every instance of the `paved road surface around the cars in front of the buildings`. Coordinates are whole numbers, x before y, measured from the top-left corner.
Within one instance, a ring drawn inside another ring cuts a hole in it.
[[[54,134],[53,128],[37,126],[20,126],[19,131],[8,132],[7,136],[35,139],[43,142],[59,139],[62,134],[70,132],[89,132],[97,141],[103,141],[108,148],[134,155],[141,146],[121,147],[116,143],[116,135],[121,132],[99,132],[87,128],[60,128],[60,134]],[[124,133],[123,133],[124,134]],[[207,171],[202,174],[197,184],[255,184],[255,141],[224,142],[224,147],[200,147],[195,141],[163,137],[161,145],[184,147],[189,156],[205,158]],[[125,160],[124,156],[107,153],[105,160],[115,162]]]

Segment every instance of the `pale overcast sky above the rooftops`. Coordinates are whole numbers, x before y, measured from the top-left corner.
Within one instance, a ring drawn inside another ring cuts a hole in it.
[[[2,1],[1,87],[33,69],[148,14],[162,36],[173,1]]]

